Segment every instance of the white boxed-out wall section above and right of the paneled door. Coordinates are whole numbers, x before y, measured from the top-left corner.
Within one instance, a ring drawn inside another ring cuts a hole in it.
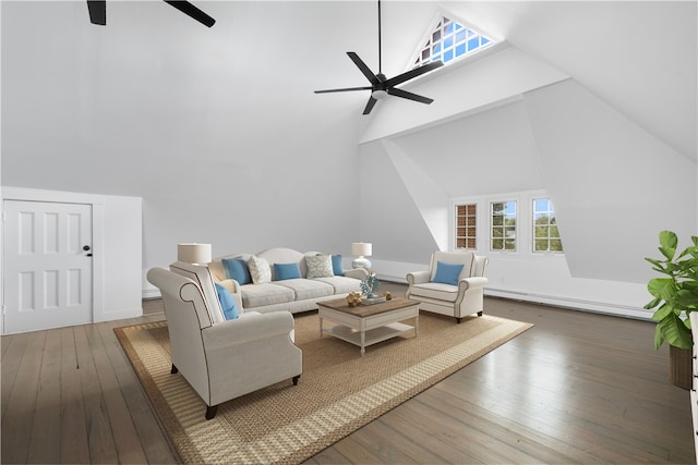
[[[93,321],[143,314],[141,198],[3,186],[2,199],[91,205]]]

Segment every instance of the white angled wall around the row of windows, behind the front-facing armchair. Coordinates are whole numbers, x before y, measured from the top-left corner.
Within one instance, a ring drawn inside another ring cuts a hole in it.
[[[384,222],[395,221],[395,229],[382,229],[377,219],[385,200],[363,197],[361,232],[374,241],[378,276],[404,282],[442,248],[422,211],[431,204],[421,205],[419,196],[474,198],[484,207],[478,253],[490,258],[489,295],[649,317],[641,307],[649,301],[645,284],[652,272],[643,257],[655,255],[661,229],[677,231],[683,241],[695,234],[693,160],[570,79],[423,127],[362,147],[362,169],[372,172],[364,176],[366,193],[380,184],[399,212]],[[401,178],[400,162],[421,169],[428,181],[416,185]],[[539,192],[555,205],[565,254],[531,254],[521,231],[517,253],[490,252],[489,201],[517,199],[520,215],[527,215],[532,193]]]

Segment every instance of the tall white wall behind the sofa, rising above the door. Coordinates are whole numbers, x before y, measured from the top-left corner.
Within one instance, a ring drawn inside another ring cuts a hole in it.
[[[306,51],[328,10],[363,22],[352,3],[209,2],[209,29],[161,1],[109,2],[106,27],[84,1],[2,2],[2,183],[143,198],[143,273],[179,242],[349,255],[365,122],[341,101],[364,97],[315,96],[332,64]]]

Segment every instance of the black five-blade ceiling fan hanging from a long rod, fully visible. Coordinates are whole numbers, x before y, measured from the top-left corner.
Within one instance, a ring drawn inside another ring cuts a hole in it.
[[[354,64],[361,70],[364,76],[371,83],[371,86],[365,87],[347,87],[340,89],[327,89],[327,90],[315,90],[315,94],[327,94],[327,93],[342,93],[342,91],[351,91],[351,90],[371,90],[371,97],[369,97],[369,102],[363,110],[363,114],[369,114],[375,103],[385,98],[388,95],[393,95],[395,97],[406,98],[408,100],[419,101],[421,103],[431,103],[434,101],[431,98],[422,97],[417,94],[409,93],[407,90],[399,89],[395,87],[398,84],[402,84],[406,81],[412,79],[417,76],[421,76],[422,74],[429,73],[440,66],[443,66],[444,63],[440,61],[432,61],[431,63],[426,63],[422,66],[416,68],[413,70],[407,71],[402,74],[398,74],[395,77],[390,77],[389,79],[383,74],[382,70],[382,56],[381,56],[381,0],[378,0],[378,73],[374,74],[373,71],[359,58],[357,53],[353,51],[348,51],[347,54],[354,62]]]

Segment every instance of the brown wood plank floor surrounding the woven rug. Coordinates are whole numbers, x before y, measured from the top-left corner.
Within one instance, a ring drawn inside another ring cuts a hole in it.
[[[2,336],[1,462],[176,463],[112,331],[160,308]],[[652,323],[496,298],[485,313],[535,327],[308,463],[695,463]]]

